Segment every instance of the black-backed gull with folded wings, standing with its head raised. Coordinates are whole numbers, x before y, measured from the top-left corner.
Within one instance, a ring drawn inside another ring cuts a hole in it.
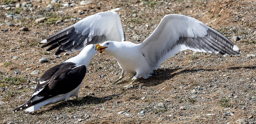
[[[18,106],[14,112],[20,110],[33,112],[44,105],[67,101],[73,96],[77,100],[82,100],[78,97],[78,91],[86,74],[86,68],[97,53],[96,47],[93,44],[87,45],[77,56],[47,70],[40,78],[29,101]]]

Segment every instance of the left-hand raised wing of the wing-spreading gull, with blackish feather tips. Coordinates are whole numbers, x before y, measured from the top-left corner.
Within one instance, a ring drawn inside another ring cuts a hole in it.
[[[117,12],[99,12],[80,20],[40,43],[41,48],[50,46],[46,51],[57,47],[55,55],[67,51],[81,51],[88,44],[100,44],[107,40],[124,41],[125,35],[120,16]]]

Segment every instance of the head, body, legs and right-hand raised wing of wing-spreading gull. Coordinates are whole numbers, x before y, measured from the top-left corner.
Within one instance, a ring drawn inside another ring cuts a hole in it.
[[[218,31],[197,19],[178,14],[164,16],[154,32],[140,44],[106,41],[98,46],[100,53],[112,55],[122,69],[121,76],[112,84],[120,81],[125,72],[135,75],[127,86],[133,86],[139,78],[150,77],[165,59],[183,50],[240,54],[239,48]]]

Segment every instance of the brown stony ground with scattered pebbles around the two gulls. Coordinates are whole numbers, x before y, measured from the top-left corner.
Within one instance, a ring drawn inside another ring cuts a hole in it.
[[[0,123],[218,123],[256,124],[256,2],[254,0],[0,0]],[[106,53],[94,57],[70,98],[28,113],[12,110],[29,100],[41,75],[78,54],[46,52],[39,42],[86,16],[115,9],[128,41],[141,43],[167,14],[196,18],[231,39],[238,56],[185,50],[153,76],[123,88],[125,74]],[[27,28],[26,28],[27,27]],[[46,57],[48,62],[40,63]]]

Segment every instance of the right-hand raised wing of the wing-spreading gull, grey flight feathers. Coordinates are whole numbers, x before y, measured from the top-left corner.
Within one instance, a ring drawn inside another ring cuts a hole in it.
[[[155,31],[140,44],[151,69],[182,50],[216,54],[240,54],[224,35],[194,18],[171,14],[163,17]]]

